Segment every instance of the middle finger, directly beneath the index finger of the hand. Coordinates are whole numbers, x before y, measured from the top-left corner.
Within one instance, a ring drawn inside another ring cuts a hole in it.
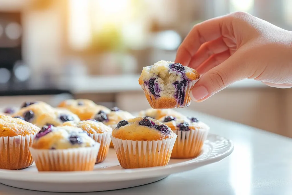
[[[212,55],[220,54],[228,49],[229,48],[223,41],[223,37],[219,37],[218,39],[215,39],[213,41],[206,42],[199,48],[197,53],[192,57],[189,63],[189,67],[196,69],[199,65],[201,65]]]

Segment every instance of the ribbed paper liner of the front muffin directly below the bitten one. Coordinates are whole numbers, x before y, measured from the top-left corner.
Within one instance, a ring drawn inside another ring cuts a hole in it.
[[[166,166],[176,137],[157,141],[133,141],[111,136],[119,163],[123,168]]]

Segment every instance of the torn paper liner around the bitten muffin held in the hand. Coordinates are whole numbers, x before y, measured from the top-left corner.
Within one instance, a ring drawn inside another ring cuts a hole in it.
[[[150,104],[150,106],[154,109],[163,109],[163,108],[183,108],[188,107],[191,103],[190,98],[190,90],[194,87],[194,84],[197,80],[193,80],[188,82],[187,86],[184,87],[184,94],[185,99],[184,102],[181,104],[180,101],[177,101],[175,97],[171,97],[174,94],[170,94],[170,96],[161,96],[155,97],[147,87],[141,85],[142,89],[144,90],[145,96]],[[179,97],[181,99],[182,97]]]

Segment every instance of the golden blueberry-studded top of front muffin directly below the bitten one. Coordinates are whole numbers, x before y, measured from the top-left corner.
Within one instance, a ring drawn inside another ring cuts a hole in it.
[[[150,117],[121,120],[112,131],[112,136],[118,139],[133,141],[152,141],[174,138],[173,131],[159,120]]]

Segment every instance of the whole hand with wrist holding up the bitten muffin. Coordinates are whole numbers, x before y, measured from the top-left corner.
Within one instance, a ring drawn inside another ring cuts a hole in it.
[[[245,78],[292,87],[292,32],[245,12],[231,13],[195,25],[175,62],[201,75],[190,93],[197,102]]]

